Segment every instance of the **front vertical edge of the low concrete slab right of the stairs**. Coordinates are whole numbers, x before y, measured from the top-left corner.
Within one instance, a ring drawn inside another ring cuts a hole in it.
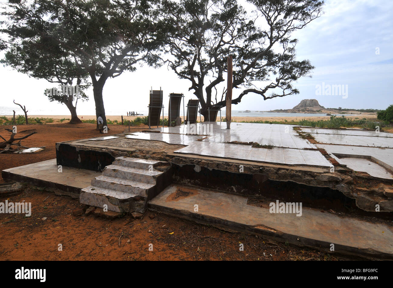
[[[198,224],[214,226],[218,229],[229,231],[232,233],[235,231],[237,233],[257,235],[258,237],[270,238],[277,242],[284,242],[284,243],[288,242],[289,244],[293,244],[299,247],[308,247],[308,248],[316,249],[324,253],[334,253],[334,254],[337,253],[341,255],[361,257],[369,260],[393,260],[393,254],[376,251],[374,249],[361,249],[357,247],[351,247],[351,246],[346,246],[336,243],[333,243],[334,251],[330,251],[331,243],[329,242],[283,233],[273,228],[266,227],[262,224],[258,226],[250,226],[250,225],[240,224],[237,222],[228,221],[213,216],[192,213],[187,210],[177,210],[177,209],[162,207],[150,203],[149,203],[149,210],[156,211],[158,213],[164,213],[174,217],[183,218],[186,220],[196,222]]]

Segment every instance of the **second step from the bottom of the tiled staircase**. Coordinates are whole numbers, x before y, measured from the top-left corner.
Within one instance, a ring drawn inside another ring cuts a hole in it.
[[[148,192],[154,189],[154,184],[139,182],[124,178],[116,178],[100,175],[92,179],[92,185],[125,193],[131,193],[147,197]]]

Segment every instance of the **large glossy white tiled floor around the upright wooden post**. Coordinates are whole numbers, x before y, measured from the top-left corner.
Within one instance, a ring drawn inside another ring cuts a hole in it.
[[[298,137],[292,127],[292,125],[233,122],[231,129],[228,130],[224,122],[207,122],[196,123],[194,127],[187,127],[187,125],[159,127],[154,130],[161,133],[136,132],[125,137],[187,145],[183,149],[174,151],[180,154],[330,167],[331,163],[319,151],[303,150],[304,148],[316,149],[316,146],[306,139]],[[187,135],[187,132],[194,132],[198,135]],[[204,139],[197,141],[201,138]],[[251,145],[227,143],[231,141],[256,142],[261,145],[272,145],[274,148],[252,148]]]

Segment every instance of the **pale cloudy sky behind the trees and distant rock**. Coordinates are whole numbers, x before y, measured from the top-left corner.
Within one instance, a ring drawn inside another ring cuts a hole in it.
[[[312,78],[303,77],[294,84],[300,93],[266,101],[259,95],[248,94],[232,110],[290,109],[302,99],[317,99],[325,108],[385,109],[393,104],[393,1],[327,0],[323,10],[320,18],[293,33],[299,41],[298,60],[309,59],[315,66]],[[196,99],[188,90],[190,82],[178,79],[166,66],[137,67],[136,72],[125,72],[107,80],[103,90],[107,115],[119,115],[123,110],[123,115],[126,111],[147,110],[151,86],[153,90],[162,88],[165,112],[171,92],[184,93],[185,103]],[[43,94],[53,84],[29,78],[7,66],[0,66],[0,79],[0,111],[10,107],[17,115],[22,114],[12,102],[15,99],[33,114],[69,114],[65,105],[50,102]],[[338,85],[342,91],[335,95]],[[325,90],[329,87],[333,87],[331,93]],[[240,92],[240,89],[233,90],[233,97]],[[78,101],[79,115],[95,114],[92,90],[87,95],[89,101]]]

